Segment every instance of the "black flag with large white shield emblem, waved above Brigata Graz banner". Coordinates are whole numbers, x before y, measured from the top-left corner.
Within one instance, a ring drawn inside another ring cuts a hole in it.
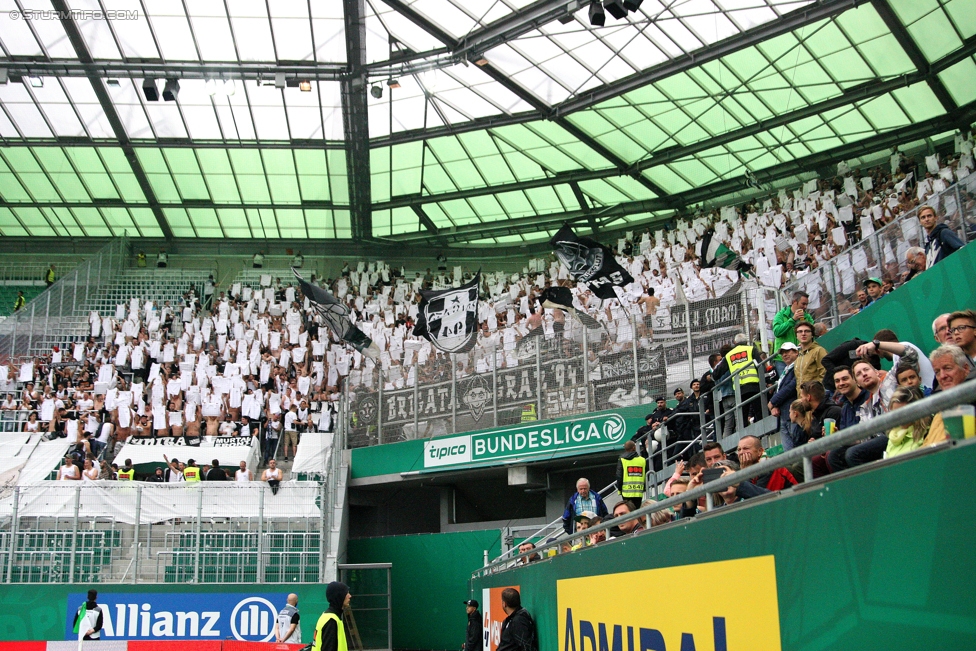
[[[481,272],[457,289],[420,292],[413,333],[445,353],[465,353],[478,339],[478,286]]]

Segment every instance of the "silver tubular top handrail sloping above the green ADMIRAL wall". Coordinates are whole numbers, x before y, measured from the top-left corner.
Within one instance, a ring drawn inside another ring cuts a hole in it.
[[[685,491],[680,496],[669,497],[668,499],[656,502],[651,506],[639,508],[636,511],[628,513],[626,516],[604,521],[595,527],[590,527],[587,529],[585,535],[589,536],[597,531],[609,531],[612,527],[619,524],[620,521],[627,521],[635,518],[646,518],[647,522],[649,523],[651,515],[658,511],[663,511],[685,502],[697,501],[700,497],[707,497],[710,494],[720,492],[732,485],[740,484],[743,481],[748,481],[758,477],[759,475],[766,474],[771,470],[776,470],[777,468],[785,468],[786,466],[794,464],[798,461],[802,461],[805,466],[809,467],[809,459],[814,456],[824,454],[825,452],[829,452],[830,450],[834,450],[844,445],[853,444],[875,434],[888,432],[895,427],[907,425],[908,423],[914,422],[920,418],[924,418],[944,409],[974,401],[976,401],[976,381],[964,382],[960,386],[953,387],[946,391],[940,391],[929,396],[928,398],[924,398],[918,402],[905,405],[904,407],[901,407],[895,411],[890,411],[870,420],[858,423],[857,425],[845,430],[841,430],[836,434],[825,436],[810,443],[805,443],[800,447],[793,448],[792,450],[788,450],[783,454],[779,454],[772,459],[766,459],[765,461],[761,461],[743,470],[737,470],[730,475],[725,475],[724,477],[720,477],[715,481],[711,481],[702,486]],[[809,476],[804,476],[804,482],[809,482],[811,479],[812,478]],[[494,574],[507,569],[510,566],[509,564],[513,561],[515,563],[519,563],[520,559],[527,559],[533,554],[539,554],[542,551],[554,549],[561,544],[561,542],[562,541],[546,543],[531,551],[518,554],[511,561],[503,562],[501,559],[493,561],[485,567],[476,570],[472,574],[472,578]],[[528,562],[528,560],[524,562]]]

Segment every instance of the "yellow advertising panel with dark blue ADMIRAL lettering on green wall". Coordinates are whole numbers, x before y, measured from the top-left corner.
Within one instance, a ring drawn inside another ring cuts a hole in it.
[[[779,651],[773,556],[556,582],[559,651]]]

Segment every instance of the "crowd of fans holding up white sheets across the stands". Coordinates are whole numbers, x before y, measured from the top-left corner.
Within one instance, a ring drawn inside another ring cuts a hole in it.
[[[572,283],[568,270],[554,257],[531,260],[521,273],[486,273],[475,353],[461,356],[454,368],[446,355],[412,333],[421,289],[456,287],[472,275],[462,267],[449,270],[443,258],[436,271],[428,269],[413,278],[383,262],[344,265],[334,279],[311,275],[313,283],[328,288],[349,307],[351,320],[380,349],[377,363],[338,341],[295,285],[281,278],[269,277],[255,286],[235,283],[223,291],[211,278],[199,293],[188,291],[178,305],[160,306],[134,297],[119,305],[114,315],[93,312],[86,342],[70,350],[55,349],[26,368],[8,367],[8,392],[0,410],[29,413],[25,431],[74,441],[74,458],[83,477],[94,476],[96,469],[102,479],[116,474],[111,461],[129,436],[190,441],[201,435],[254,436],[261,441],[265,464],[276,454],[288,459],[303,431],[332,428],[345,382],[367,389],[382,382],[385,388],[396,389],[445,379],[452,373],[463,377],[493,366],[517,366],[519,341],[540,327],[550,337],[562,333],[566,340],[581,339],[582,326],[566,319],[562,311],[543,310],[538,304],[545,287],[572,288],[574,306],[603,323],[607,336],[598,331],[598,350],[591,349],[591,355],[629,348],[635,337],[647,346],[652,336],[652,321],[647,317],[661,306],[672,305],[679,292],[689,300],[721,296],[742,271],[755,274],[764,284],[780,286],[917,207],[968,175],[972,167],[967,135],[958,139],[957,155],[944,163],[932,157],[921,163],[895,155],[890,167],[864,172],[839,169],[835,178],[811,182],[792,195],[780,191],[740,208],[699,212],[666,231],[628,234],[616,243],[617,258],[635,282],[618,290],[613,300],[601,301],[585,285]],[[966,195],[965,200],[972,199]],[[937,223],[937,215],[934,207],[919,211],[925,249],[906,251],[909,271],[905,275],[870,278],[863,307],[962,245],[951,230]],[[703,266],[696,243],[706,230],[738,254],[739,270]],[[793,322],[795,314],[784,319],[777,315],[774,322],[773,361],[783,376],[779,384],[785,382],[788,389],[792,381],[795,390],[803,391],[809,382],[819,381],[833,390],[834,378],[827,371],[838,364],[817,351],[815,338],[822,333],[816,328],[821,326],[814,325],[813,315],[804,311],[809,302],[809,296],[804,296],[791,308],[803,311],[801,321],[807,327]],[[631,324],[637,324],[636,330]],[[880,341],[887,345],[889,340],[882,336]],[[723,353],[710,360],[711,371],[718,373],[710,372],[693,383],[687,396],[682,393],[676,413],[697,411],[702,393],[721,381],[728,371]],[[924,355],[912,357],[902,348],[872,354],[876,358],[878,353],[925,361]],[[795,361],[788,361],[794,355]],[[376,366],[382,373],[374,372]],[[791,376],[793,380],[788,379]],[[923,383],[927,377],[925,372],[920,375]],[[718,390],[725,392],[722,397],[727,402],[731,392],[725,386]],[[815,404],[815,394],[815,389],[805,394],[810,400],[804,404]],[[778,390],[770,397],[771,408],[786,414],[781,416],[784,447],[802,439],[792,414],[805,422],[804,407],[794,410],[789,396],[788,390]],[[756,415],[754,407],[745,414],[747,419]],[[693,421],[672,421],[671,434],[693,440],[699,434]],[[663,423],[661,414],[649,418],[649,427],[655,423]],[[731,425],[731,419],[726,419],[725,427]],[[208,474],[205,471],[204,477]]]

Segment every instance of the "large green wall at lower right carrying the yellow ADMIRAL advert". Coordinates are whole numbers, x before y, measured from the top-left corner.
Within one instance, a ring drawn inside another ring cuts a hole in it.
[[[972,441],[880,462],[472,593],[518,586],[558,651],[976,649],[974,466]]]

